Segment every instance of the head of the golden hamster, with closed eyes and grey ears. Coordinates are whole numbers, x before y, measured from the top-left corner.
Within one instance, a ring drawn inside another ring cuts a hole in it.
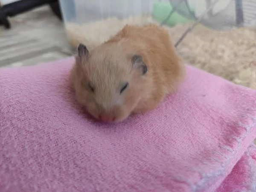
[[[102,44],[89,52],[79,44],[72,81],[76,98],[96,119],[126,119],[146,93],[147,65],[141,55]]]

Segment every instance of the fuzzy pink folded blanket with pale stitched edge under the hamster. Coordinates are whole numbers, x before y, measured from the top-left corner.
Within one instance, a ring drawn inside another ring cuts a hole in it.
[[[157,109],[106,124],[73,61],[0,70],[0,192],[256,191],[256,90],[187,66]]]

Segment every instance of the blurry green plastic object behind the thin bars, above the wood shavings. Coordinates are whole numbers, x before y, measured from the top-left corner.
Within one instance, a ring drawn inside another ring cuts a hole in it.
[[[183,5],[184,6],[184,5]],[[179,9],[182,9],[182,5]],[[184,10],[186,8],[184,7]],[[194,11],[192,8],[189,8]],[[157,20],[157,22],[162,23],[169,13],[172,11],[172,5],[169,2],[161,2],[156,1],[153,5],[153,18]],[[182,15],[174,12],[169,20],[166,21],[166,25],[175,26],[177,23],[186,23],[189,19],[183,17]]]

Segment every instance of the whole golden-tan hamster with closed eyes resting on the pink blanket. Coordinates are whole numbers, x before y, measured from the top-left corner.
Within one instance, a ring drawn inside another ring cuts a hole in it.
[[[125,25],[91,51],[79,44],[71,70],[77,101],[105,122],[153,110],[184,77],[168,31],[156,24]]]

